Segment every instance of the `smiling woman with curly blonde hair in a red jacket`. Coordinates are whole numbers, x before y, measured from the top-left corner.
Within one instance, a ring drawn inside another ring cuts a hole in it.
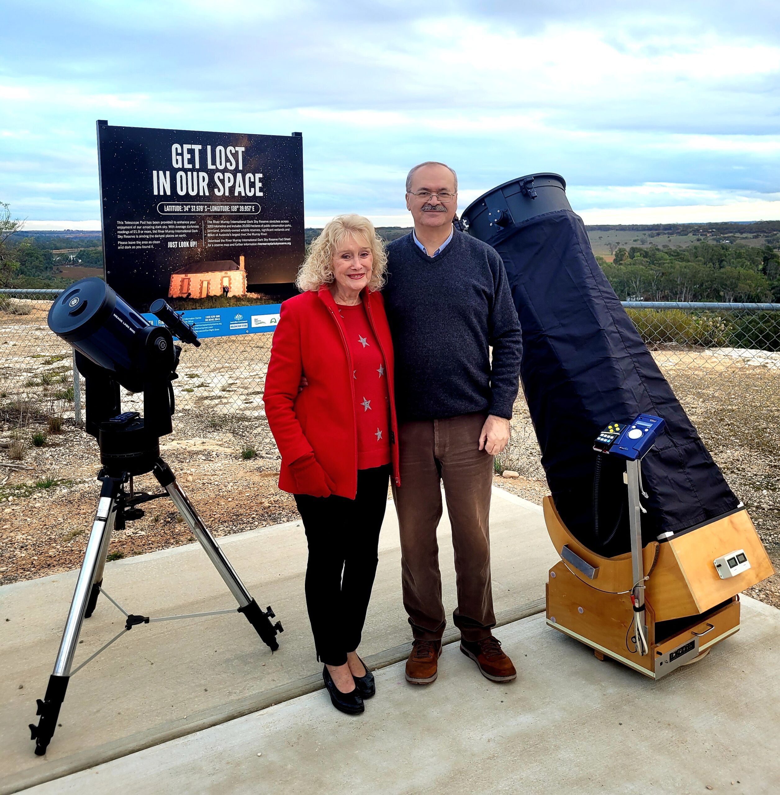
[[[357,647],[391,472],[399,483],[393,343],[378,293],[385,267],[371,221],[341,215],[326,225],[298,274],[303,292],[281,304],[263,394],[279,487],[294,494],[309,542],[317,659],[333,705],[350,714],[375,692]]]

